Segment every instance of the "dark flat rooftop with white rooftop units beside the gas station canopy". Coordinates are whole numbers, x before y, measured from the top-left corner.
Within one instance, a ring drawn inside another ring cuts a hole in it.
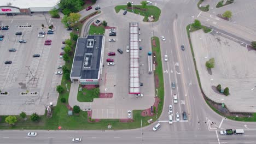
[[[87,35],[78,38],[75,47],[71,77],[98,79],[103,35]]]

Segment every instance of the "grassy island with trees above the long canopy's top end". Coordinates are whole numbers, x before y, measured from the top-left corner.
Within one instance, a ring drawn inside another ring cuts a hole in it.
[[[137,8],[142,8],[142,5],[133,5],[133,8],[137,7]],[[118,5],[115,7],[115,13],[118,13],[121,9],[123,10],[127,10],[130,11],[132,13],[132,9],[127,9],[127,5]],[[133,9],[135,14],[140,14],[145,16],[143,21],[148,21],[148,17],[153,15],[155,17],[155,21],[158,21],[159,16],[161,14],[161,10],[158,7],[155,7],[154,5],[147,5],[146,6],[147,10],[139,10],[139,9]]]

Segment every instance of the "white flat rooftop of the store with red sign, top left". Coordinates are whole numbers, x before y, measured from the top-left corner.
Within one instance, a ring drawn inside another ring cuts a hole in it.
[[[0,6],[13,6],[20,9],[54,7],[60,0],[0,0]]]

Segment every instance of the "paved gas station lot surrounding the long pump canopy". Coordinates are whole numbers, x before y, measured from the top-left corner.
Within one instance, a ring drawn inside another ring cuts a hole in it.
[[[155,100],[154,75],[148,74],[147,53],[152,51],[148,24],[141,25],[143,17],[129,12],[125,16],[122,11],[116,14],[119,21],[114,21],[111,15],[112,13],[104,13],[98,19],[108,20],[108,26],[115,27],[117,32],[117,36],[109,37],[109,29],[105,31],[104,67],[100,81],[100,91],[113,93],[113,98],[94,99],[91,105],[92,118],[127,118],[128,110],[148,109]],[[142,39],[139,45],[142,46],[142,50],[139,51],[139,76],[143,83],[141,86],[143,97],[138,98],[135,94],[129,94],[129,52],[126,52],[126,46],[129,46],[129,22],[134,21],[139,22],[141,28],[139,39]],[[110,38],[116,41],[109,42]],[[117,49],[121,49],[123,53],[119,53]],[[108,52],[115,52],[115,56],[108,56]],[[107,65],[107,58],[113,58],[115,65]]]

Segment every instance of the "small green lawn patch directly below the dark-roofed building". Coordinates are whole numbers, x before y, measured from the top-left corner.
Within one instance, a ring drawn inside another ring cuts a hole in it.
[[[82,91],[78,91],[77,100],[79,102],[92,102],[94,101],[94,98],[98,98],[98,95],[95,93],[94,89],[83,88]]]

